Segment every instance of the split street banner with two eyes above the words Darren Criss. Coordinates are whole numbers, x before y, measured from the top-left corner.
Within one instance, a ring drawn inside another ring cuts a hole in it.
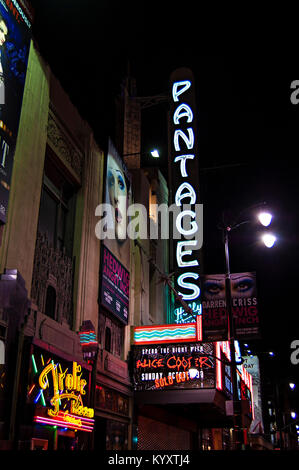
[[[203,334],[205,341],[227,339],[225,274],[201,276]],[[256,273],[231,274],[232,313],[235,337],[256,339],[260,334]]]

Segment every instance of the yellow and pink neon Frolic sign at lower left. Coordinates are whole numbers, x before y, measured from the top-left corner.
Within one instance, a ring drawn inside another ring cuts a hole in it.
[[[34,421],[91,432],[94,409],[88,406],[90,371],[35,348],[31,355],[27,402],[34,403]]]

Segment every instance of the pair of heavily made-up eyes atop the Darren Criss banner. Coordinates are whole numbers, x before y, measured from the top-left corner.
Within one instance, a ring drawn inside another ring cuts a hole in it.
[[[255,280],[252,273],[231,274],[232,297],[253,297]],[[203,297],[207,300],[225,299],[225,277],[206,276],[203,284]]]

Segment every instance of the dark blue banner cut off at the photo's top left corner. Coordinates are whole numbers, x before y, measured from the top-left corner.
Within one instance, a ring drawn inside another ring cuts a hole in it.
[[[6,223],[13,159],[31,39],[16,0],[0,0],[0,223]]]

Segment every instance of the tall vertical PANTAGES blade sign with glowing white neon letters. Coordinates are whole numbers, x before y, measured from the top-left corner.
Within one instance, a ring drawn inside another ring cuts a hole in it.
[[[176,70],[171,76],[171,85],[171,189],[173,202],[180,209],[175,222],[181,235],[180,241],[174,241],[174,269],[178,273],[179,294],[185,301],[194,301],[200,296],[196,253],[202,246],[202,220],[199,220],[195,97],[191,71]]]

